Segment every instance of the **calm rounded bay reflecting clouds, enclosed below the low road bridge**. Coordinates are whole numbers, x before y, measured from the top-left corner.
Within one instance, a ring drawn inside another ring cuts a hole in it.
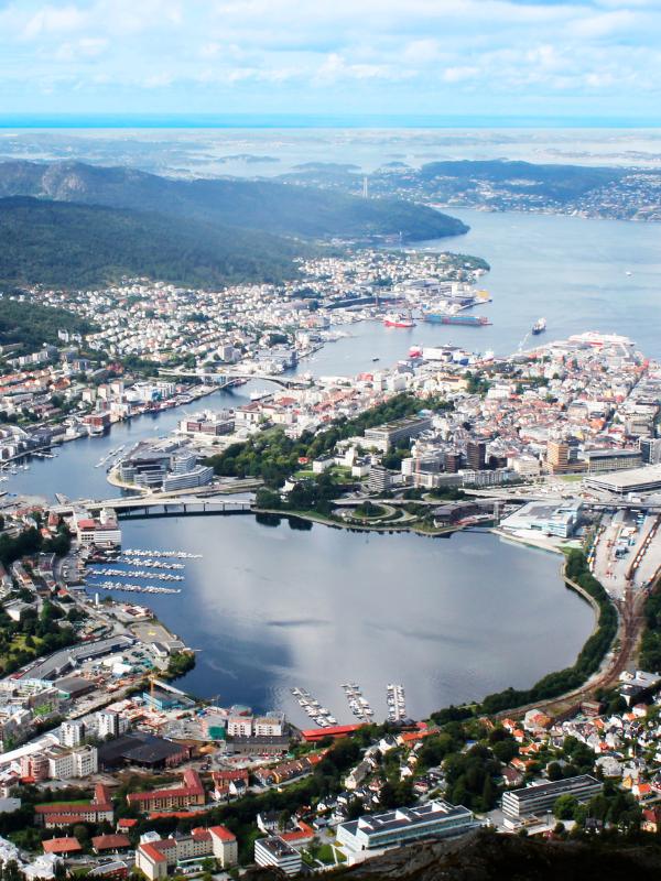
[[[124,523],[127,547],[181,548],[182,594],[145,600],[203,651],[185,687],[226,703],[284,707],[303,686],[350,720],[339,684],[379,716],[389,682],[422,716],[573,662],[589,607],[563,588],[559,558],[490,534],[369,535],[252,516]],[[124,595],[126,596],[126,595]]]

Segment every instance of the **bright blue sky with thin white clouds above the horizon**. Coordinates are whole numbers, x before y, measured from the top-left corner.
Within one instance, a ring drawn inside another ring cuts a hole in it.
[[[661,121],[661,0],[0,0],[11,115]]]

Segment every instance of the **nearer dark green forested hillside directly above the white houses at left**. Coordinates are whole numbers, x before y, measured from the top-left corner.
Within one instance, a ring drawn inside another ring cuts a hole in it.
[[[96,286],[122,275],[196,287],[279,282],[300,242],[196,220],[29,197],[0,199],[0,285]]]

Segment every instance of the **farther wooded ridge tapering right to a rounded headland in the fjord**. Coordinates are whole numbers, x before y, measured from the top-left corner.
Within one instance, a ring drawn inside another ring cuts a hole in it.
[[[395,198],[364,199],[273,181],[180,181],[78,162],[0,164],[0,196],[36,196],[155,211],[207,224],[303,238],[399,236],[433,239],[467,231],[456,218]]]

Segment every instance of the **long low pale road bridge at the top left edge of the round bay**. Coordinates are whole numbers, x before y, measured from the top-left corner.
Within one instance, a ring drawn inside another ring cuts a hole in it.
[[[212,496],[130,496],[115,499],[76,499],[53,505],[56,514],[72,514],[75,510],[100,511],[111,508],[120,520],[148,516],[181,516],[182,514],[249,514],[249,499],[219,499]]]

